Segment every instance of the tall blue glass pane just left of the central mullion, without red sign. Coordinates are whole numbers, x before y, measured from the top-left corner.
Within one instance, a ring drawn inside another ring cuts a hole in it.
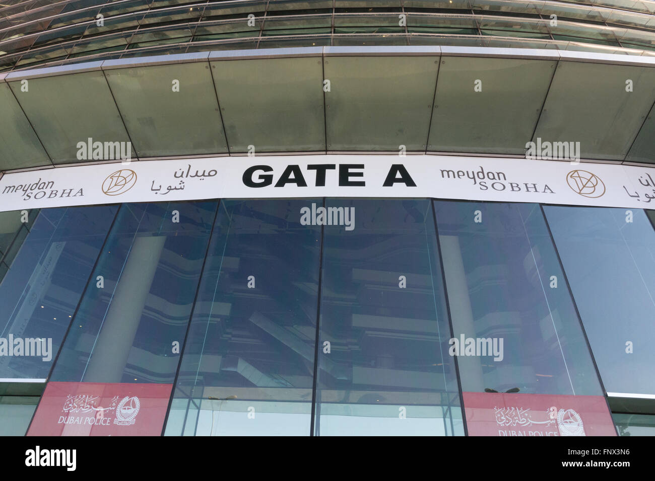
[[[321,229],[300,220],[312,203],[221,201],[166,435],[310,434]]]

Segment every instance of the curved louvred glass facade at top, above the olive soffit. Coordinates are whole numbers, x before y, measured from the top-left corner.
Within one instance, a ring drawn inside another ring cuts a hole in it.
[[[1,5],[0,71],[285,46],[458,45],[633,55],[655,50],[652,7],[642,2],[398,0],[371,5],[326,0]]]

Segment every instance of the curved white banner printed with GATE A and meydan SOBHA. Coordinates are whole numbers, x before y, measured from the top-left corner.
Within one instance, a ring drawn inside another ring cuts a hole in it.
[[[655,198],[655,168],[433,155],[244,156],[60,167],[7,173],[0,179],[0,211],[324,196],[647,209]]]

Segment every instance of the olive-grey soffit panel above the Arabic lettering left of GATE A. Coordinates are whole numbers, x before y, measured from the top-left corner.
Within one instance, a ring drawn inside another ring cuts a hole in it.
[[[227,152],[207,62],[105,70],[105,76],[138,156]],[[179,92],[172,93],[172,79]]]

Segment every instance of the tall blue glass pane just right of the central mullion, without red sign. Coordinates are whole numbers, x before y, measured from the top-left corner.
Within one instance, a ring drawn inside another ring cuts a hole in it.
[[[326,204],[314,434],[463,435],[430,201]]]

